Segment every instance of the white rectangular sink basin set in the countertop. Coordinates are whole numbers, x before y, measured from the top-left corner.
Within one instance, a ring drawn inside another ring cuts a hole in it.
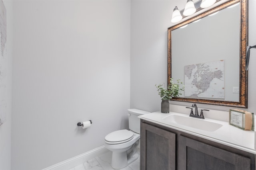
[[[211,121],[198,119],[194,117],[185,117],[181,115],[169,115],[167,117],[164,117],[163,120],[209,132],[216,131],[217,129],[222,127],[222,124],[219,123],[214,123]]]

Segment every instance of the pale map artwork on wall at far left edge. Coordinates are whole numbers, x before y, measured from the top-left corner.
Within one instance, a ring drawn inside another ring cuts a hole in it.
[[[0,125],[6,121],[6,8],[0,0]]]

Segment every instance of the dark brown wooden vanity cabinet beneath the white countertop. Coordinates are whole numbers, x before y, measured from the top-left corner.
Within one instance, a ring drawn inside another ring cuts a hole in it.
[[[254,154],[142,120],[140,170],[254,170]]]

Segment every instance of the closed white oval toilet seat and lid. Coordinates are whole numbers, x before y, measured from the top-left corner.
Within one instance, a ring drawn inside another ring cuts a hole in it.
[[[114,131],[106,135],[105,142],[108,144],[126,143],[132,140],[133,137],[134,137],[134,133],[124,129],[124,130]]]

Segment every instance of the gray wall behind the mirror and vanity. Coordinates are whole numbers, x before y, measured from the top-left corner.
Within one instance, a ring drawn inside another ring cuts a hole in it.
[[[155,84],[167,83],[167,28],[171,23],[175,6],[181,10],[185,1],[179,0],[134,0],[131,4],[131,107],[147,111],[160,110],[161,99]],[[256,1],[249,0],[249,45],[256,44]],[[195,42],[196,43],[196,42]],[[256,49],[251,50],[248,76],[248,111],[256,106]],[[173,102],[182,106],[191,103]],[[198,104],[199,107],[228,110],[229,107]]]

